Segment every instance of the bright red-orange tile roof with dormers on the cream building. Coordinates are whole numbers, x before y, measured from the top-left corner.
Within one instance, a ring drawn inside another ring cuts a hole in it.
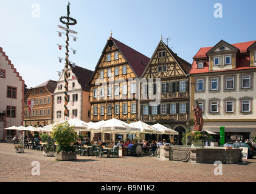
[[[240,53],[247,53],[248,47],[250,47],[252,44],[254,44],[256,41],[249,41],[249,42],[240,42],[237,44],[232,44],[234,47],[237,47],[239,49]],[[192,64],[192,69],[190,70],[190,74],[194,73],[207,73],[209,72],[209,60],[204,62],[204,68],[203,69],[197,69],[197,64],[195,60],[199,60],[201,58],[208,58],[206,53],[212,49],[213,47],[202,47],[199,49],[198,53],[193,57],[193,64]],[[237,67],[235,70],[242,70],[242,69],[255,69],[256,67],[250,67],[249,66],[249,55],[244,55],[244,56],[237,56]],[[234,69],[231,69],[234,70]],[[218,72],[223,72],[223,71],[228,71],[228,70],[219,70]],[[212,71],[211,71],[212,72]]]

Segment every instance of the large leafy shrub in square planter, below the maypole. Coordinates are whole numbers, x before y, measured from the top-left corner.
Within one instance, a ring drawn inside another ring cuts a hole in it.
[[[72,126],[67,121],[54,125],[52,138],[57,143],[55,159],[74,160],[77,159],[73,144],[77,141],[77,135]]]

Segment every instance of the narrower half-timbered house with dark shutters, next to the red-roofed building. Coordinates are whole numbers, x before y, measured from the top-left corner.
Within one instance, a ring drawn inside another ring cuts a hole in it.
[[[178,131],[171,139],[177,144],[189,126],[190,68],[161,40],[140,78],[140,120]]]

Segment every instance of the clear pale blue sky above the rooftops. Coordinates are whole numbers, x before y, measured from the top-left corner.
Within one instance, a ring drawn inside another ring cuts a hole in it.
[[[57,31],[66,16],[67,0],[0,0],[0,47],[28,88],[49,79],[58,81],[64,68],[65,44]],[[70,60],[94,70],[110,36],[151,58],[163,35],[173,52],[192,63],[201,47],[223,39],[230,44],[256,40],[256,1],[231,0],[69,0],[77,25],[77,41],[69,46]],[[215,18],[214,5],[223,6],[223,18]],[[33,4],[39,5],[39,18]]]

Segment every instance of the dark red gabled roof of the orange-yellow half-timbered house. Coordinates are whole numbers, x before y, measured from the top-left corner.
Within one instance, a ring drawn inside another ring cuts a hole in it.
[[[117,47],[119,52],[122,54],[123,58],[126,60],[126,62],[128,62],[128,65],[130,65],[131,69],[133,70],[133,73],[139,78],[144,72],[145,68],[147,67],[147,64],[150,61],[150,58],[143,55],[142,53],[137,52],[131,47],[128,47],[128,45],[125,45],[122,42],[117,41],[117,39],[109,37],[102,51],[102,55],[100,56],[100,59],[95,67],[91,80],[89,81],[89,84],[94,78],[94,75],[97,72],[97,68],[99,67],[100,62],[102,61],[103,55],[105,54],[105,50],[109,44],[110,45],[114,44]]]

